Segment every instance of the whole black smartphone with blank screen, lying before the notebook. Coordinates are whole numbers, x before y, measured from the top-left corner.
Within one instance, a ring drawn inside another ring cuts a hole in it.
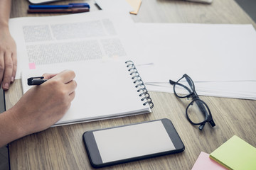
[[[183,152],[185,149],[169,119],[90,130],[82,135],[95,168]]]

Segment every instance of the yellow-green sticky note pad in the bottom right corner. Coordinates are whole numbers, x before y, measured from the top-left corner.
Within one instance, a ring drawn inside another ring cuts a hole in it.
[[[255,170],[256,148],[238,136],[233,136],[210,154],[210,159],[228,169]]]

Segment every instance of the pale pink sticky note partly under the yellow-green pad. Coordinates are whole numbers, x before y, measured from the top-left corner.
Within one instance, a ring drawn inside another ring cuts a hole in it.
[[[201,152],[191,170],[228,170],[224,166],[210,159],[209,154]]]

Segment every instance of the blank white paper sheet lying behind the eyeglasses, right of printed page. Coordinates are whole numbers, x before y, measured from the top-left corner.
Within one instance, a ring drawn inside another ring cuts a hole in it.
[[[154,67],[145,81],[168,82],[183,74],[193,81],[256,80],[256,32],[251,25],[136,23],[144,56]]]

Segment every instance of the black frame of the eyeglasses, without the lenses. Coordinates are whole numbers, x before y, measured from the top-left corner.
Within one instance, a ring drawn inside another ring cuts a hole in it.
[[[179,84],[178,81],[180,81],[181,79],[185,78],[186,81],[188,82],[189,86],[191,86],[191,89],[192,91],[187,87],[187,86],[184,86],[183,84]],[[183,77],[181,77],[181,79],[178,79],[178,81],[172,81],[172,80],[169,80],[169,83],[174,85],[174,94],[175,96],[177,96],[178,98],[188,98],[188,97],[192,97],[193,98],[193,101],[191,101],[191,103],[188,104],[187,108],[186,108],[186,118],[188,119],[188,121],[192,124],[192,125],[200,125],[199,126],[199,130],[203,130],[203,127],[204,125],[206,125],[206,123],[210,123],[210,125],[212,127],[215,126],[215,123],[213,121],[213,116],[212,114],[210,113],[210,109],[209,107],[207,106],[207,104],[202,101],[198,94],[196,94],[196,90],[195,90],[195,84],[193,83],[193,80],[191,79],[191,77],[189,77],[187,74],[183,74]],[[189,80],[188,80],[189,79]],[[175,86],[178,85],[178,86],[183,86],[183,88],[185,88],[186,90],[188,90],[189,94],[186,95],[186,96],[178,96],[178,94],[176,93],[176,90],[175,90]],[[203,120],[201,123],[193,123],[193,121],[189,118],[188,116],[188,108],[190,106],[193,105],[193,103],[196,102],[198,104],[198,107],[200,108],[201,112],[205,114],[205,120]],[[202,104],[200,103],[202,102],[204,104],[205,107],[202,106]],[[207,109],[208,112],[205,110]]]

